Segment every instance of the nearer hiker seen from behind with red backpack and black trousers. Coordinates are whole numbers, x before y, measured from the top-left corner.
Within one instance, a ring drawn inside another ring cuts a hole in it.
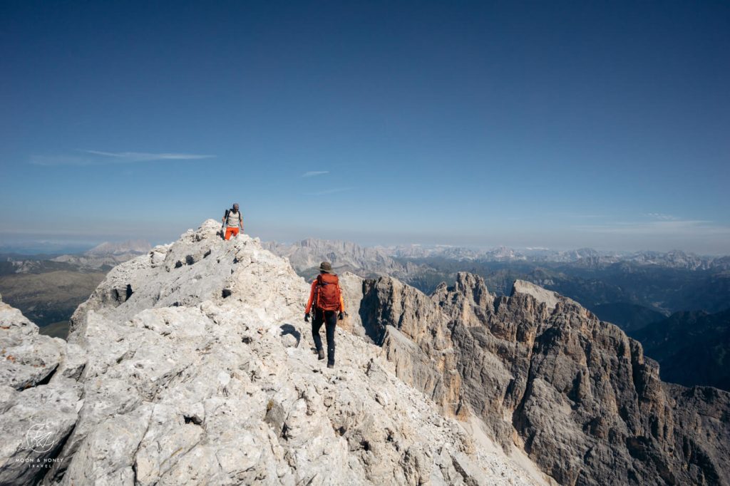
[[[334,368],[334,329],[337,327],[337,319],[342,320],[345,312],[345,301],[342,299],[342,289],[339,288],[339,279],[332,271],[328,261],[320,264],[320,274],[312,282],[310,300],[304,309],[304,320],[309,322],[310,311],[314,307],[312,318],[312,338],[315,340],[315,347],[320,360],[324,359],[322,350],[322,337],[319,330],[322,323],[325,325],[327,335],[327,368]]]

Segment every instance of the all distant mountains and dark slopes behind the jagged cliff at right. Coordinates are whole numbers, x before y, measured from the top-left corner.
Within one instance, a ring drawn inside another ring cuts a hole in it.
[[[645,342],[646,354],[661,363],[663,379],[730,390],[723,371],[730,350],[723,344],[730,336],[730,257],[585,248],[367,248],[318,239],[265,246],[288,258],[307,279],[317,274],[320,261],[331,261],[339,273],[396,277],[427,294],[441,282],[453,285],[461,271],[483,277],[487,288],[502,296],[510,294],[515,280],[532,282],[580,302],[601,320]]]

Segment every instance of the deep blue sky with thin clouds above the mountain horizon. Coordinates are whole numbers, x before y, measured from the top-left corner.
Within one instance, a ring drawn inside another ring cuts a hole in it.
[[[730,253],[725,1],[2,1],[0,247]]]

